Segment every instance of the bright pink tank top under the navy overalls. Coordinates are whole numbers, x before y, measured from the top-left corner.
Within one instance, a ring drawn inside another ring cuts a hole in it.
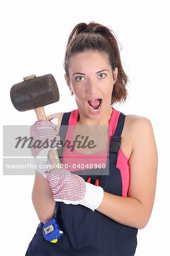
[[[119,119],[119,114],[120,112],[118,110],[115,110],[113,108],[110,121],[109,121],[109,142],[111,139],[111,136],[114,134],[114,131],[117,127],[118,119]],[[71,115],[69,117],[69,122],[68,122],[68,131],[67,135],[65,137],[65,140],[72,141],[72,135],[73,135],[73,128],[77,123],[78,119],[78,109],[72,110]],[[107,150],[107,149],[106,149]],[[68,165],[68,170],[69,171],[81,171],[83,168],[75,168],[75,166],[81,162],[82,164],[86,164],[87,159],[89,156],[81,154],[80,152],[75,150],[72,152],[68,147],[64,147],[63,151],[63,165],[66,166]],[[106,163],[106,156],[103,157],[103,153],[98,153],[96,155],[90,155],[90,163],[97,163],[97,158],[100,160],[99,163]],[[102,162],[101,162],[102,161]],[[73,164],[74,163],[74,164]],[[122,196],[127,196],[128,192],[128,185],[129,185],[129,166],[128,166],[128,159],[126,158],[125,154],[122,151],[122,148],[120,148],[119,153],[118,153],[118,160],[117,160],[117,166],[116,166],[120,172],[121,172],[121,177],[122,177]],[[85,168],[87,169],[87,168]]]

